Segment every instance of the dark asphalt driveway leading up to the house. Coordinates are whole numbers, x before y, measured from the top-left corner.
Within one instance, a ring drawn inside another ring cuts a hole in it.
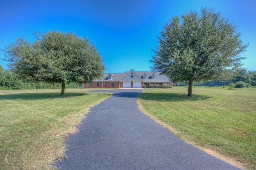
[[[112,97],[90,109],[66,140],[57,164],[76,169],[238,169],[175,136],[144,115],[136,104],[142,90],[111,90]]]

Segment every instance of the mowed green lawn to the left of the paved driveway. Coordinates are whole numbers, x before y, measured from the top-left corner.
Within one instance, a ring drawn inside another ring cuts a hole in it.
[[[89,108],[111,96],[81,91],[0,91],[0,169],[51,168]]]

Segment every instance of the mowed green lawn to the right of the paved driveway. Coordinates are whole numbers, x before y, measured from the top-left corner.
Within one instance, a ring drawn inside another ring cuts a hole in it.
[[[256,169],[256,89],[145,89],[139,109],[186,142],[243,169]]]

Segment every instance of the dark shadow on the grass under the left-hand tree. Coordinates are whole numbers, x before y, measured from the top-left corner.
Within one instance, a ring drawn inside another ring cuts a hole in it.
[[[86,96],[88,93],[65,93],[61,96],[60,93],[18,93],[18,94],[8,94],[0,95],[0,100],[46,100],[46,99],[56,99],[56,98],[70,98],[78,96]]]

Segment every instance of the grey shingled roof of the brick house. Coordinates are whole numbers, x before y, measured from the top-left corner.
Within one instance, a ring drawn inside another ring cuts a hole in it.
[[[131,71],[133,71],[131,69]],[[94,81],[122,81],[126,75],[128,75],[131,71],[125,71],[124,73],[106,73],[103,75],[102,79],[97,79]],[[168,77],[165,75],[160,75],[154,71],[133,71],[144,83],[167,83],[170,82]],[[112,79],[108,79],[108,75],[112,75]],[[147,75],[146,79],[143,79],[143,75]],[[154,79],[152,79],[152,75],[154,75]]]

